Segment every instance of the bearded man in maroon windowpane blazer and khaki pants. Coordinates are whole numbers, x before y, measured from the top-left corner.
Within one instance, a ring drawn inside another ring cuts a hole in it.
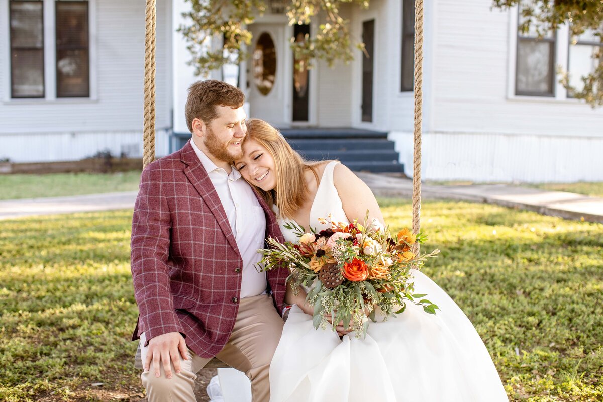
[[[142,384],[153,401],[195,401],[195,374],[216,356],[245,372],[254,402],[270,399],[286,272],[257,272],[276,219],[230,162],[245,137],[244,95],[221,81],[189,88],[192,139],[142,172],[131,270]]]

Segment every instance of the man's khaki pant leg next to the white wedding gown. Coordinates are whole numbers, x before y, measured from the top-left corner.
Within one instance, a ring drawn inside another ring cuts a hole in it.
[[[249,377],[253,402],[270,401],[270,362],[282,331],[283,319],[270,296],[244,298],[230,339],[216,355]]]

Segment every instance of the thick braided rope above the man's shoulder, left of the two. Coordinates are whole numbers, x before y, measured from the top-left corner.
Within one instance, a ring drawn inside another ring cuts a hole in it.
[[[145,101],[142,130],[143,156],[145,168],[155,160],[155,24],[157,20],[156,0],[147,0],[145,18]]]

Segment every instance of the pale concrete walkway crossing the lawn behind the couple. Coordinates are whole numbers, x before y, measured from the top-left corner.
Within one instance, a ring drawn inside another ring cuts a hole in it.
[[[412,181],[384,174],[357,173],[377,196],[411,198]],[[57,213],[128,209],[137,192],[0,201],[0,219]],[[532,210],[566,219],[603,223],[603,198],[575,193],[543,191],[507,184],[481,186],[421,186],[423,199],[453,199]]]

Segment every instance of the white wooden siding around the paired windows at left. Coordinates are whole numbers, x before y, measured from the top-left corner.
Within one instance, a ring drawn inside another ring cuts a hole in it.
[[[171,126],[172,108],[171,0],[159,0],[157,7],[156,127],[165,130]],[[0,0],[0,8],[8,10],[7,0]],[[8,18],[0,14],[0,36],[4,36]],[[141,133],[143,124],[144,15],[144,2],[101,0],[90,10],[96,25],[96,36],[90,37],[90,46],[96,49],[96,99],[7,99],[6,88],[0,88],[0,154],[8,154],[5,157],[14,162],[41,162],[95,154],[102,150],[96,149],[100,143],[111,143],[113,149],[123,143],[128,148],[131,140],[121,140],[121,134]],[[0,40],[0,46],[4,47],[0,54],[7,54],[8,42]],[[0,83],[10,85],[5,57],[0,57],[0,74],[8,75],[8,81]],[[108,138],[95,139],[95,135]],[[138,135],[142,142],[142,134]],[[39,139],[45,141],[40,154],[8,151],[16,149],[14,143],[37,149],[31,141]]]

